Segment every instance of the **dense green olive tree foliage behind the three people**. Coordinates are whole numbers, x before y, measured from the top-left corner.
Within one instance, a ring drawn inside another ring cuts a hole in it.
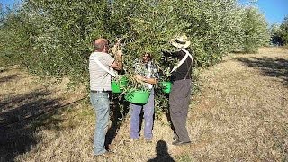
[[[111,44],[122,39],[130,78],[134,60],[145,52],[168,75],[176,61],[163,58],[163,51],[175,50],[169,41],[180,33],[192,42],[194,67],[210,67],[231,50],[257,50],[268,38],[263,15],[236,0],[24,0],[0,25],[1,56],[33,73],[69,76],[75,83],[88,82],[87,61],[99,37]],[[130,86],[139,85],[130,79]],[[166,95],[157,97],[157,105],[166,107]]]

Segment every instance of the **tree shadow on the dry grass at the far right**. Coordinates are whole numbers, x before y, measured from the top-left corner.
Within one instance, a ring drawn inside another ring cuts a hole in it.
[[[284,85],[288,85],[288,60],[284,58],[237,58],[248,67],[258,67],[264,75],[278,77],[283,80]]]

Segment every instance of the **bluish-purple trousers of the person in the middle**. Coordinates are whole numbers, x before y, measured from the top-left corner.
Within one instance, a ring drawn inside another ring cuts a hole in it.
[[[152,139],[154,115],[154,90],[152,89],[148,102],[144,105],[130,103],[130,138],[139,139],[140,112],[144,112],[144,138]]]

